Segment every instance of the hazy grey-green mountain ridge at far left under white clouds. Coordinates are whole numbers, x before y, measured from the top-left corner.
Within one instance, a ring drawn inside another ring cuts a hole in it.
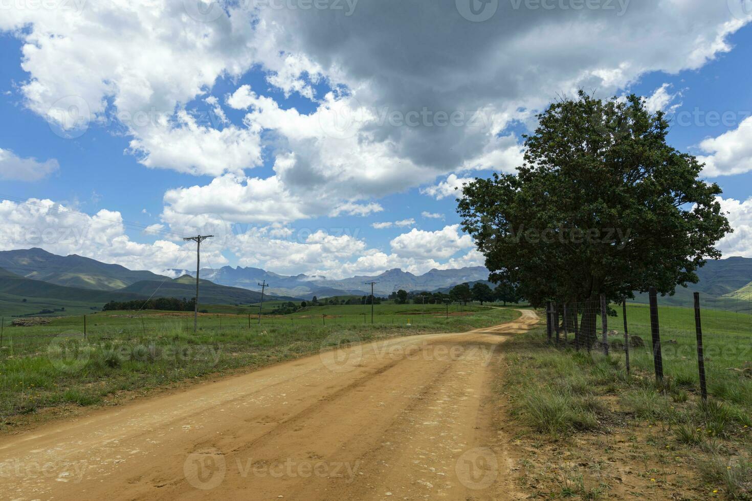
[[[106,264],[80,255],[60,256],[43,249],[0,252],[0,267],[27,279],[65,287],[115,291],[143,280],[161,280],[150,271],[132,271],[119,264]]]

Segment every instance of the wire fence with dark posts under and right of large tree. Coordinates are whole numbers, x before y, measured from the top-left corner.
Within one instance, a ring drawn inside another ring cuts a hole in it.
[[[607,304],[605,297],[547,305],[553,346],[620,358],[627,373],[653,373],[660,385],[699,390],[744,403],[752,395],[752,307]],[[748,305],[752,306],[752,304]]]

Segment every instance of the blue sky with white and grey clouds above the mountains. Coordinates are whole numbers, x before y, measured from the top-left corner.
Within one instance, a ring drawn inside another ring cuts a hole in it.
[[[514,171],[535,113],[584,88],[635,92],[674,117],[670,142],[708,161],[732,213],[721,249],[752,255],[747,0],[632,0],[623,14],[499,0],[482,22],[462,19],[465,0],[360,0],[350,15],[235,2],[210,20],[191,1],[6,9],[3,249],[162,271],[190,267],[178,237],[208,228],[215,267],[482,264],[451,188]],[[71,105],[86,108],[83,128],[59,118]],[[422,110],[428,122],[405,124]]]

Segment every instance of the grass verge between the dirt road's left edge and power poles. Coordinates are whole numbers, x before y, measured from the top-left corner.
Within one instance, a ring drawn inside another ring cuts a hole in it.
[[[312,355],[338,343],[368,343],[421,333],[463,332],[511,321],[512,309],[482,309],[472,315],[414,324],[296,325],[279,322],[255,328],[202,319],[193,332],[182,321],[158,316],[142,330],[126,330],[133,318],[97,315],[86,340],[61,319],[44,328],[15,327],[24,342],[0,350],[0,431],[35,421],[45,409],[117,403],[123,392],[147,392],[205,376],[253,370]],[[156,320],[161,319],[157,323]],[[229,325],[229,327],[228,327]],[[35,332],[38,337],[35,337]],[[59,336],[50,334],[59,333]],[[5,340],[8,342],[8,328]],[[60,409],[58,409],[60,410]],[[54,412],[53,412],[54,413]]]

